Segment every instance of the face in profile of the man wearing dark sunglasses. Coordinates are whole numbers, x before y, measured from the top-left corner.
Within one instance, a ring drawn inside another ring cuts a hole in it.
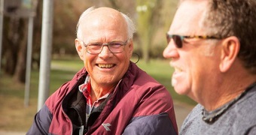
[[[207,1],[183,1],[178,8],[168,33],[180,35],[206,35],[200,21],[203,19]],[[181,48],[171,40],[163,52],[165,58],[172,58],[175,68],[172,86],[175,92],[188,95],[194,101],[211,95],[218,76],[219,49],[216,42],[197,38],[184,39]],[[214,74],[212,74],[214,73]],[[216,87],[216,86],[215,86]]]

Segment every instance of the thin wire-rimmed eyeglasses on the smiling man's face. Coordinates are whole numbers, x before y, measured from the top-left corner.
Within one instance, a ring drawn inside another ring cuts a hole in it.
[[[84,43],[84,42],[83,42]],[[128,40],[125,42],[122,41],[111,41],[108,43],[101,43],[101,42],[95,42],[95,43],[84,43],[84,46],[87,49],[87,52],[90,54],[99,54],[102,52],[103,46],[108,46],[108,49],[112,53],[120,53],[123,52],[124,46],[128,43]]]

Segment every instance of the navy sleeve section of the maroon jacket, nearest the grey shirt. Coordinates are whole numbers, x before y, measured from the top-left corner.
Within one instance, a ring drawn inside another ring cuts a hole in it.
[[[172,135],[178,133],[175,132],[168,114],[160,113],[159,115],[138,116],[133,118],[123,131],[123,135],[126,134]]]

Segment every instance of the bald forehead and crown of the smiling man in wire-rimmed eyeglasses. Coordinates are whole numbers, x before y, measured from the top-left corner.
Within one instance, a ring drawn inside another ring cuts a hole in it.
[[[93,10],[81,23],[82,33],[87,38],[126,37],[127,24],[120,12],[108,8]]]

